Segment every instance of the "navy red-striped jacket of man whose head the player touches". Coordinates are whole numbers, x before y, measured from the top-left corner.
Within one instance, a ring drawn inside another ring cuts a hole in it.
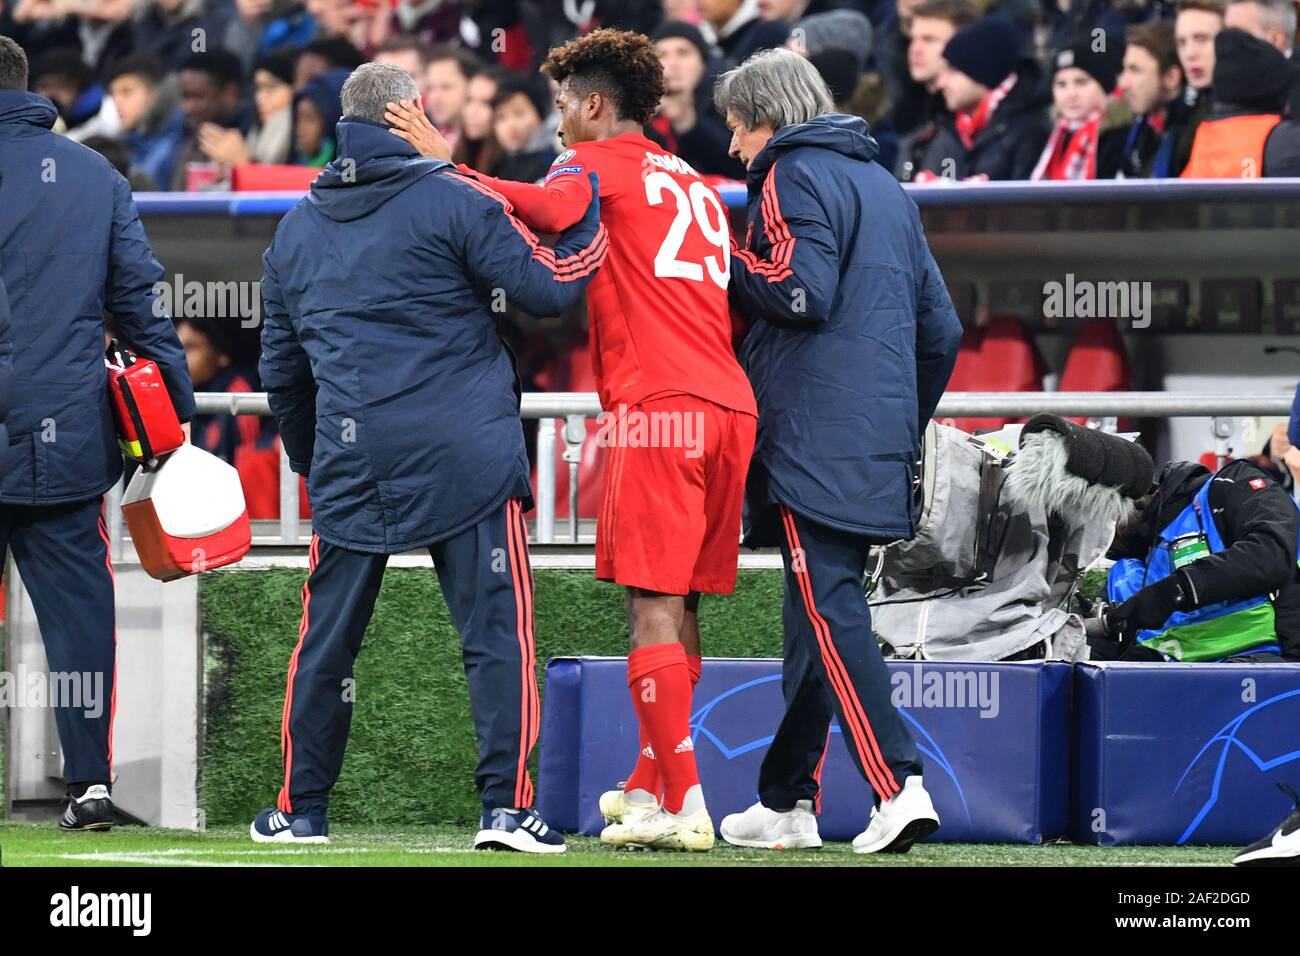
[[[315,531],[394,553],[528,498],[497,316],[572,304],[606,233],[593,200],[547,248],[491,190],[365,120],[341,122],[338,147],[263,258],[259,368]]]

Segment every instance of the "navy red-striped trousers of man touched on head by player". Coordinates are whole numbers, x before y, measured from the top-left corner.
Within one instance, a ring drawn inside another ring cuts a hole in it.
[[[460,633],[484,806],[530,806],[528,757],[541,711],[533,574],[519,501],[511,498],[474,527],[430,545],[429,554]],[[386,554],[312,538],[281,724],[285,782],[278,806],[286,813],[324,813],[329,804],[352,723],[352,666],[386,563]]]

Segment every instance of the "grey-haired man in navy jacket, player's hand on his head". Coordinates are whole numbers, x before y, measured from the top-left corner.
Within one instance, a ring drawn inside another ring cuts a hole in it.
[[[316,536],[289,671],[283,788],[255,840],[328,839],[351,719],[344,693],[389,554],[428,549],[464,648],[478,735],[476,847],[559,852],[533,812],[532,507],[507,302],[556,315],[604,259],[597,200],[554,250],[498,194],[421,159],[384,124],[415,101],[400,69],[343,86],[338,156],[264,258],[261,381]],[[436,732],[436,728],[426,728]],[[398,758],[399,754],[394,754]]]

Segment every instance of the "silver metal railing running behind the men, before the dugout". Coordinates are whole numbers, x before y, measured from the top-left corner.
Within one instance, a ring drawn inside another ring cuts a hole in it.
[[[1216,425],[1226,418],[1290,415],[1290,392],[1262,393],[1180,393],[1180,392],[950,392],[939,403],[936,418],[1028,418],[1039,412],[1115,418],[1199,418],[1210,416]],[[261,392],[198,393],[203,415],[270,415]],[[568,541],[578,541],[578,467],[588,438],[586,421],[601,415],[601,403],[590,392],[530,392],[523,398],[520,415],[538,419],[537,432],[537,518],[536,544],[555,544],[556,432],[564,450],[559,458],[569,468]],[[1214,436],[1222,440],[1219,428]],[[298,518],[298,476],[280,450],[280,520],[273,535],[255,535],[259,546],[298,546],[302,527]],[[113,557],[122,557],[121,486],[109,494],[109,533]]]

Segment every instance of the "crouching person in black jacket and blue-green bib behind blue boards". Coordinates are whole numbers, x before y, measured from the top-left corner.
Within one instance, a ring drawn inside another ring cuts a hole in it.
[[[1300,661],[1300,510],[1251,462],[1170,462],[1115,533],[1092,659]]]

